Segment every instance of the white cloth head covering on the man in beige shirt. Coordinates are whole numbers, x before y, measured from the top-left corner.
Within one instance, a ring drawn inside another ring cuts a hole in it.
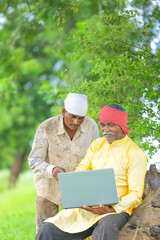
[[[69,113],[86,116],[88,110],[87,96],[79,93],[69,93],[64,100],[64,107]]]

